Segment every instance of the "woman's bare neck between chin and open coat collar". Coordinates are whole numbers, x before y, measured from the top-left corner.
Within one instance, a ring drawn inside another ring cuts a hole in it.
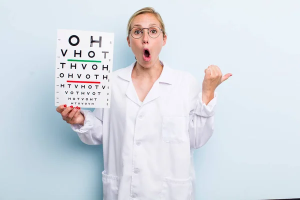
[[[133,67],[132,77],[137,79],[157,80],[162,71],[162,65],[159,59],[150,67],[144,67],[136,61]]]

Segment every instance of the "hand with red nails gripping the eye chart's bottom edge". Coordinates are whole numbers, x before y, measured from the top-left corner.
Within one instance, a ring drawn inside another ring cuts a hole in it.
[[[64,105],[59,105],[56,107],[56,111],[62,116],[62,119],[69,124],[80,124],[84,123],[84,115],[80,113],[80,107],[73,107],[72,105],[67,107]]]

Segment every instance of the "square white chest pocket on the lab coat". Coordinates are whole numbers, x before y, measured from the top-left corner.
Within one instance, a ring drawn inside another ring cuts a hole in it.
[[[188,116],[162,116],[162,139],[169,143],[183,143],[188,134]]]

